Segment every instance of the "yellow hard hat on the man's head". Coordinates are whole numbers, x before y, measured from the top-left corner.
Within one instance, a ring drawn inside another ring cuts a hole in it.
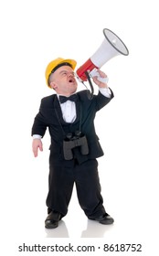
[[[58,59],[54,59],[48,63],[48,66],[46,69],[46,82],[47,82],[47,85],[49,88],[50,88],[50,86],[48,84],[48,78],[49,78],[50,74],[53,73],[56,69],[58,69],[60,66],[65,65],[65,64],[69,65],[72,69],[75,69],[77,62],[74,59],[58,58]]]

